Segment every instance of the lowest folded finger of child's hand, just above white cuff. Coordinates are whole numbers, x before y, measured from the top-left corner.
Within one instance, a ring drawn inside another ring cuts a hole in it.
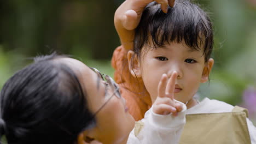
[[[175,107],[167,104],[154,105],[154,112],[159,115],[168,115],[170,113],[176,113]]]

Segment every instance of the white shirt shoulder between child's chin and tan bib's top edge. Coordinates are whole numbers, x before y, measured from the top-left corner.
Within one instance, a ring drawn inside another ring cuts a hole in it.
[[[187,110],[187,114],[192,113],[220,113],[231,112],[234,106],[215,99],[205,98],[199,104]]]

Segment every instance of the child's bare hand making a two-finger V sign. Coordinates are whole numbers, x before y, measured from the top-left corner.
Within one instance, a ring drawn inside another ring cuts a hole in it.
[[[174,101],[174,89],[177,72],[173,71],[170,79],[163,74],[158,84],[158,98],[153,104],[153,112],[159,115],[172,113],[174,116],[177,112],[182,111],[182,105]]]

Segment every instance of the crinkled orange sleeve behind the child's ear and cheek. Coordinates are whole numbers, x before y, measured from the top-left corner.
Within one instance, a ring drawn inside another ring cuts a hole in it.
[[[150,95],[144,87],[142,79],[133,77],[129,71],[127,50],[117,47],[112,57],[112,67],[115,69],[114,80],[119,84],[122,97],[126,100],[129,112],[138,121],[144,118],[144,113],[151,107]]]

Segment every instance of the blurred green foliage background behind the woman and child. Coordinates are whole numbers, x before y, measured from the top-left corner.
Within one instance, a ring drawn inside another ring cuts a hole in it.
[[[256,122],[256,0],[196,1],[213,21],[214,68],[204,97],[249,109]],[[0,89],[31,57],[59,51],[113,76],[120,45],[114,11],[123,0],[0,0]]]

